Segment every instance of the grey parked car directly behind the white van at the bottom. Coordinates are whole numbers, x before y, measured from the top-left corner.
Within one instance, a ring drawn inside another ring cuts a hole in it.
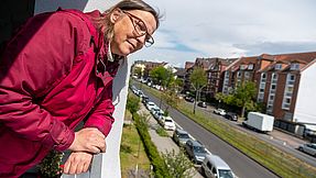
[[[198,141],[188,140],[185,143],[185,151],[194,164],[200,165],[208,154],[205,146]]]

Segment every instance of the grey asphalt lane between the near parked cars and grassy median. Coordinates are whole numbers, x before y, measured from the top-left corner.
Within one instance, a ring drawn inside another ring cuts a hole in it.
[[[146,91],[144,92],[153,102],[160,102],[160,99],[153,97]],[[219,155],[222,159],[225,159],[238,177],[277,177],[270,170],[259,165],[257,162],[250,159],[248,156],[243,155],[235,147],[221,141],[220,138],[211,134],[209,131],[205,130],[199,124],[195,123],[194,121],[178,112],[177,110],[170,108],[170,115],[190,135],[201,142],[210,153]]]

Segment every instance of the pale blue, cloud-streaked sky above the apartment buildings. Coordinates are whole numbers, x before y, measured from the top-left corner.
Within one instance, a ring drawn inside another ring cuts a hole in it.
[[[132,60],[184,67],[197,57],[316,51],[315,0],[145,0],[163,15],[155,44]]]

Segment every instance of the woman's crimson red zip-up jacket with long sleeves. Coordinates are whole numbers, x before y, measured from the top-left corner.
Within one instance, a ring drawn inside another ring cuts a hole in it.
[[[103,35],[85,20],[100,13],[75,13],[81,16],[57,11],[32,18],[6,48],[0,62],[0,177],[18,177],[52,148],[67,149],[80,121],[105,135],[111,129],[119,63],[106,60]]]

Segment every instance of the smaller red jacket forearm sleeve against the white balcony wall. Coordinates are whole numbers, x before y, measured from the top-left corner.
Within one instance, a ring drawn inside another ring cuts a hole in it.
[[[103,135],[108,136],[115,118],[115,105],[112,104],[112,81],[109,87],[105,89],[101,102],[96,105],[92,113],[88,116],[85,127],[97,127]]]

